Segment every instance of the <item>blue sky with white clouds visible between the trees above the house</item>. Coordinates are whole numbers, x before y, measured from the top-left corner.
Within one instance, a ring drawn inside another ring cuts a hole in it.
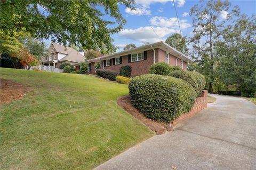
[[[119,10],[127,23],[119,33],[111,35],[114,39],[113,44],[119,47],[117,51],[122,51],[126,44],[133,43],[136,46],[141,46],[147,42],[165,41],[168,36],[180,33],[172,0],[137,0],[136,2],[139,6],[137,10],[128,9],[125,5],[119,5]],[[174,2],[182,36],[191,37],[193,28],[189,12],[191,7],[199,4],[199,1],[174,0]],[[238,5],[241,13],[245,13],[248,16],[256,14],[256,0],[229,2],[233,7]],[[225,19],[229,12],[223,11],[220,18]],[[104,19],[112,20],[109,16],[105,16]],[[45,40],[45,42],[50,45],[50,40]]]

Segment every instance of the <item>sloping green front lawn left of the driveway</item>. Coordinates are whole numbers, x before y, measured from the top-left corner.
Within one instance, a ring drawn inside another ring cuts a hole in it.
[[[26,85],[1,106],[1,169],[92,169],[153,136],[116,100],[127,85],[90,75],[1,68]]]

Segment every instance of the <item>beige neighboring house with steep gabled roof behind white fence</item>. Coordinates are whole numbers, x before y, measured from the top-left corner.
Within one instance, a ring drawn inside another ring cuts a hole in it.
[[[83,52],[79,53],[74,48],[52,43],[49,47],[47,57],[42,61],[42,64],[59,68],[66,61],[70,64],[81,63],[85,61],[83,54]]]

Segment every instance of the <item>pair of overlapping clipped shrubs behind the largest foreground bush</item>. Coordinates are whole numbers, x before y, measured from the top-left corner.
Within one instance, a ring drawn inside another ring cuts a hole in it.
[[[205,87],[205,78],[203,75],[199,74],[199,72],[175,70],[170,72],[168,75],[185,80],[194,88],[197,95],[200,95]]]

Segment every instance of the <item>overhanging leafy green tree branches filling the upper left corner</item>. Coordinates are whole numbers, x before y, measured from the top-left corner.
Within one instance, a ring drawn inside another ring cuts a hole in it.
[[[86,49],[111,51],[111,34],[126,23],[118,5],[131,7],[130,0],[112,1],[1,1],[1,31],[25,31],[35,38],[50,38],[64,45],[78,44]],[[102,10],[99,10],[102,9]],[[102,17],[110,15],[109,21]],[[116,27],[109,27],[114,25]]]

